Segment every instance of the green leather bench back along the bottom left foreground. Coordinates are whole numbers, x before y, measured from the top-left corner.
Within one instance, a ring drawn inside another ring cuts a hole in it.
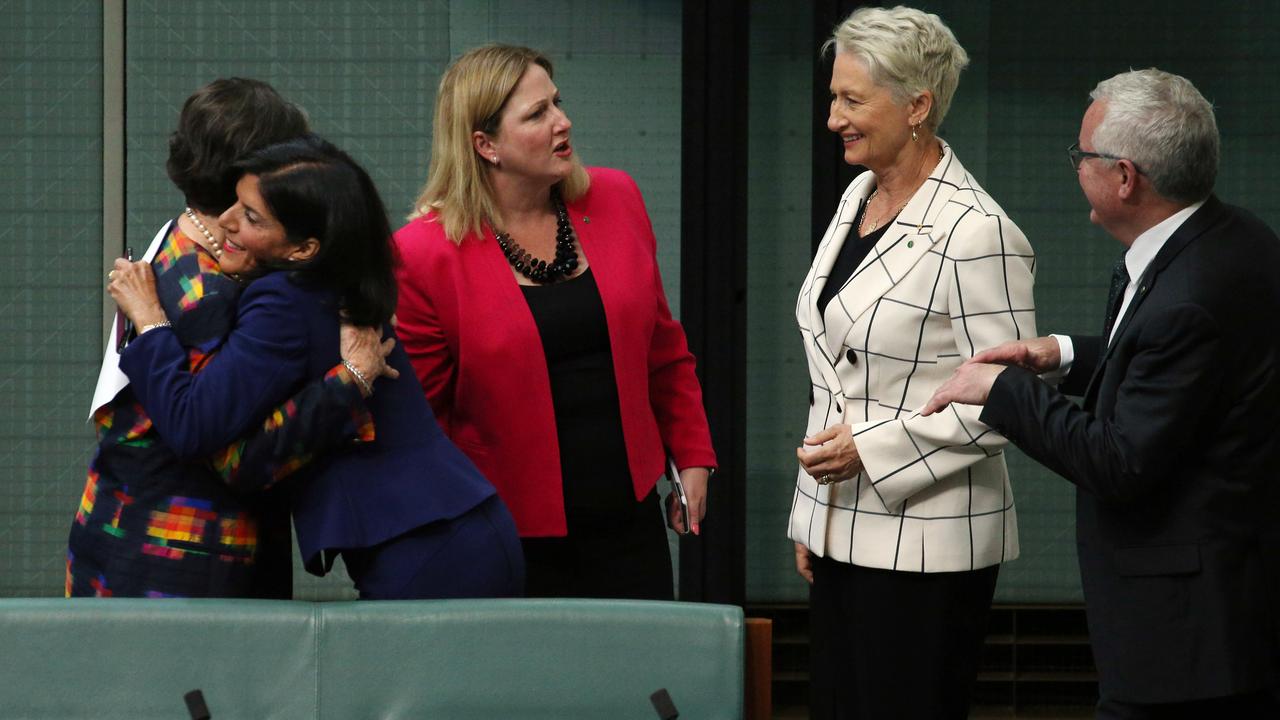
[[[0,717],[742,715],[742,612],[637,601],[0,600]]]

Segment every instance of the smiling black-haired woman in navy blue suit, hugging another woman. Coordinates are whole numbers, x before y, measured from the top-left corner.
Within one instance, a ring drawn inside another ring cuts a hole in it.
[[[178,340],[159,325],[120,361],[182,454],[227,445],[334,368],[340,322],[385,327],[396,307],[387,213],[346,152],[307,136],[239,167],[237,202],[219,219],[223,266],[261,277],[244,291],[224,348],[191,374]],[[148,277],[140,275],[143,288]],[[137,327],[163,320],[145,290],[118,301]],[[506,506],[444,437],[399,347],[388,364],[383,378],[352,374],[366,395],[376,389],[358,419],[362,442],[285,480],[306,569],[323,575],[342,555],[362,598],[520,594],[524,557]]]

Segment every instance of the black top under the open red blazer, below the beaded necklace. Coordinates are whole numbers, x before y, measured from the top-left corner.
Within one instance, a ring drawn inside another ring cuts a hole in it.
[[[566,511],[630,509],[635,492],[609,327],[591,269],[556,284],[520,290],[547,354]]]

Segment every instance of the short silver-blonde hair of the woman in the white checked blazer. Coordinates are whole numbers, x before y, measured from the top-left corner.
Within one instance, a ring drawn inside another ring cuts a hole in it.
[[[861,60],[872,82],[905,104],[928,90],[933,108],[924,127],[937,131],[960,85],[969,55],[942,18],[915,8],[859,8],[832,31],[822,54],[835,46]]]

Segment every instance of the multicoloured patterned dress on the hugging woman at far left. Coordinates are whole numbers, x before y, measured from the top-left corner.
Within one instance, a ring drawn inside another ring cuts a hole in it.
[[[151,266],[165,315],[200,372],[236,324],[239,284],[177,222]],[[358,388],[337,372],[214,459],[178,457],[132,387],[93,423],[99,446],[72,523],[68,597],[289,597],[288,507],[256,491],[329,443],[372,437]]]

